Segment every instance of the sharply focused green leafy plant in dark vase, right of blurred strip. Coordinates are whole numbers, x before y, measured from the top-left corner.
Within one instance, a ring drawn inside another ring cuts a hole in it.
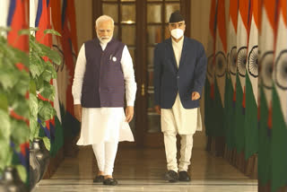
[[[30,31],[38,31],[30,28]],[[46,30],[44,34],[61,36],[57,31]],[[44,36],[42,37],[44,38]],[[55,65],[61,65],[62,57],[57,51],[45,46],[30,33],[30,142],[34,138],[43,139],[48,151],[50,142],[47,136],[40,137],[40,124],[46,127],[47,120],[56,115],[50,101],[55,98],[55,88],[50,81],[57,78]],[[41,98],[41,97],[42,98]],[[43,100],[43,98],[45,100]]]

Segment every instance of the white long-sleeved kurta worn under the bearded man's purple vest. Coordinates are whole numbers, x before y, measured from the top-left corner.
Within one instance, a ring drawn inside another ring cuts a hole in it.
[[[100,44],[104,50],[107,44]],[[126,105],[135,103],[135,72],[128,49],[123,49],[121,66],[125,79]],[[74,104],[81,104],[83,76],[86,68],[84,45],[80,49],[74,71],[72,87]],[[102,142],[134,141],[132,131],[126,122],[123,108],[83,108],[82,128],[78,145],[100,144]]]

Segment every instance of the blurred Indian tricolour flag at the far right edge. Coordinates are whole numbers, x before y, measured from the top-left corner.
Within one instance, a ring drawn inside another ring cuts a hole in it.
[[[287,4],[286,0],[277,3],[272,94],[272,191],[287,186]]]

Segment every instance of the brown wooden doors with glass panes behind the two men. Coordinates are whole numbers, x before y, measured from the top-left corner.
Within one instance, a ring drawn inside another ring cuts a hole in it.
[[[186,18],[186,34],[190,34],[189,0],[92,1],[92,18],[108,14],[114,19],[114,38],[126,44],[134,61],[137,93],[130,126],[137,146],[163,146],[161,117],[153,109],[153,49],[170,38],[168,22],[176,10]],[[95,38],[94,31],[92,34]]]

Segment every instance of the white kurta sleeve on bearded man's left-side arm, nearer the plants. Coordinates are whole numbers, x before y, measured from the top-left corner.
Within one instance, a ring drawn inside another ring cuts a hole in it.
[[[79,51],[79,55],[74,70],[74,82],[72,86],[74,105],[81,104],[83,75],[85,73],[85,70],[86,70],[86,57],[83,44],[82,48]]]

